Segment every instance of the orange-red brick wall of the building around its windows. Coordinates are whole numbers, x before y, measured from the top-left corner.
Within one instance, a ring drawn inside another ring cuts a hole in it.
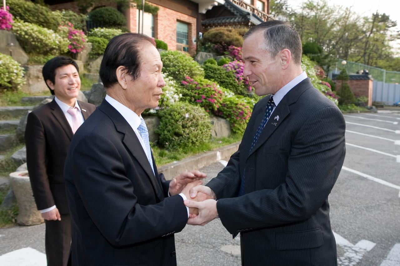
[[[193,55],[196,53],[196,43],[192,42],[192,39],[196,37],[196,18],[182,14],[180,12],[158,6],[159,10],[154,16],[154,36],[156,39],[162,40],[168,44],[168,50],[176,50],[176,21],[184,22],[188,24],[188,41],[189,41],[189,54]],[[130,19],[129,19],[129,30],[130,32],[138,32],[136,25],[136,8],[130,8]]]

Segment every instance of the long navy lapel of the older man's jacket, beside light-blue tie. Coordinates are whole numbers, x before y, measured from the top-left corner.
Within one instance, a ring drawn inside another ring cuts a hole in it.
[[[136,136],[136,133],[133,131],[132,127],[130,127],[124,117],[122,117],[122,115],[118,113],[118,111],[114,107],[112,107],[110,103],[108,103],[108,101],[103,100],[99,108],[104,113],[106,113],[108,117],[110,117],[110,119],[114,122],[117,131],[124,133],[125,136],[123,142],[125,146],[136,158],[136,160],[139,162],[139,164],[148,175],[148,178],[150,179],[154,187],[154,191],[156,192],[158,199],[160,199],[160,201],[163,200],[164,193],[162,192],[161,184],[157,181],[158,177],[154,175],[153,170],[151,169],[151,166],[147,159],[146,153],[144,153],[142,145],[140,144],[140,141]]]

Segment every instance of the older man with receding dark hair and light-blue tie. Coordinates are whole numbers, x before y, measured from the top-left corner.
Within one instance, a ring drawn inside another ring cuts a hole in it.
[[[158,105],[165,82],[151,38],[112,38],[100,77],[102,104],[76,132],[65,165],[72,265],[176,265],[174,233],[189,216],[199,171],[159,174],[141,113]]]

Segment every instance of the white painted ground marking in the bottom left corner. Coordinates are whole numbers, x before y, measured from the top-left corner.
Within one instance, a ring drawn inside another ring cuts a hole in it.
[[[47,265],[46,254],[33,248],[21,248],[0,256],[4,266],[43,266]]]

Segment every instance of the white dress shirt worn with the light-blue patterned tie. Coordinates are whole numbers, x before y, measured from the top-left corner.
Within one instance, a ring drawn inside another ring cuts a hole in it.
[[[131,109],[129,109],[128,107],[126,107],[125,105],[123,105],[122,103],[120,103],[119,101],[117,101],[116,99],[110,97],[110,95],[106,95],[105,100],[108,101],[108,103],[110,103],[110,105],[112,107],[114,107],[118,113],[120,113],[122,115],[122,117],[124,117],[124,119],[126,120],[126,122],[128,122],[128,124],[130,125],[130,127],[132,127],[133,131],[135,132],[136,136],[138,137],[140,144],[142,145],[142,149],[144,151],[144,153],[146,153],[146,146],[144,145],[144,141],[142,139],[142,136],[140,135],[140,132],[138,131],[138,127],[140,125],[142,118],[142,115],[138,115],[137,113],[135,113],[134,111],[132,111]],[[156,177],[158,178],[158,177]],[[186,200],[186,196],[183,193],[179,194],[183,200]],[[169,192],[168,192],[168,196],[169,196]],[[188,217],[189,217],[189,208],[186,207],[187,211],[188,211]]]

